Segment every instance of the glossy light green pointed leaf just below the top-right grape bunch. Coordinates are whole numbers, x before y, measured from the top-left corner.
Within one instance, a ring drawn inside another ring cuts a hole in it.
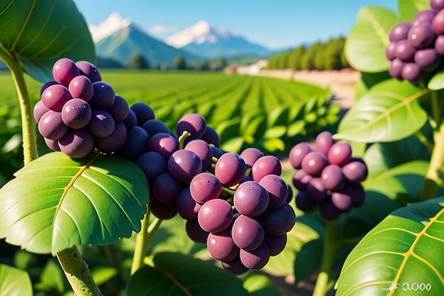
[[[345,114],[335,138],[373,143],[411,136],[427,121],[418,99],[428,92],[409,82],[385,80],[372,87]]]

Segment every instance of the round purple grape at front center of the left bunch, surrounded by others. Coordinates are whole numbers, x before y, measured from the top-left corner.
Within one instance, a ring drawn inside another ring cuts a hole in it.
[[[83,99],[77,98],[70,99],[68,102],[66,102],[61,113],[63,122],[65,122],[65,124],[70,128],[75,129],[84,128],[87,126],[92,117],[91,107],[89,104]]]

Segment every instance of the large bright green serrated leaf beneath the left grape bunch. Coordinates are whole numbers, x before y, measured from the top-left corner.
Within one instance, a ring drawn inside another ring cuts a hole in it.
[[[140,230],[148,182],[114,155],[73,160],[48,153],[0,190],[0,238],[33,253],[106,244]]]

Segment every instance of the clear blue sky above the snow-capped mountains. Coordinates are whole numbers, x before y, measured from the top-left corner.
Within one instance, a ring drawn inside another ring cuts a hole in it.
[[[268,48],[347,35],[362,6],[397,11],[398,0],[74,0],[89,25],[113,11],[131,18],[153,37],[163,38],[204,19]]]

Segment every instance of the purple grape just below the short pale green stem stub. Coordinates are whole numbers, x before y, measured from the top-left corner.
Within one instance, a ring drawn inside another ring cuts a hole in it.
[[[168,159],[168,171],[176,180],[188,182],[202,171],[202,160],[191,150],[177,150]]]

